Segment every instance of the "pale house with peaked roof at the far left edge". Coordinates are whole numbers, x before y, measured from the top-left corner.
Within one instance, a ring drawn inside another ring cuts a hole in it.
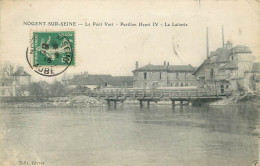
[[[30,83],[31,75],[17,67],[14,73],[1,78],[0,96],[29,96]]]

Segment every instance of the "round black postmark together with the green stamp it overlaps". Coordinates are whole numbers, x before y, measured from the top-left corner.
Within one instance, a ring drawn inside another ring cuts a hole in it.
[[[43,76],[57,76],[75,65],[74,31],[32,32],[26,58],[30,67]]]

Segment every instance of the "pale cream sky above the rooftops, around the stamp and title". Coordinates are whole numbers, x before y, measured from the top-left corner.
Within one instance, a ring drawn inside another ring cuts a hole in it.
[[[139,66],[199,66],[206,58],[206,27],[209,50],[222,47],[221,26],[225,42],[247,45],[259,57],[259,3],[255,0],[134,0],[134,1],[7,1],[0,11],[1,62],[23,66],[32,80],[59,80],[62,75],[47,78],[35,73],[25,58],[30,34],[36,30],[73,30],[76,33],[76,65],[64,73],[132,75]],[[70,21],[113,23],[186,23],[183,27],[43,27],[26,26],[26,21]],[[181,60],[174,54],[177,43]],[[259,61],[259,59],[257,59]]]

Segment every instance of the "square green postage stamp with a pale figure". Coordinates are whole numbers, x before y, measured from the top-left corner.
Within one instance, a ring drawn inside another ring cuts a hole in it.
[[[74,32],[33,32],[33,65],[74,65]]]

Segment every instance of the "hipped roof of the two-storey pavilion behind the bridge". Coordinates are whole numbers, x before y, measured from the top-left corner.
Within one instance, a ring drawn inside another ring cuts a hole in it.
[[[191,65],[151,65],[148,64],[139,69],[133,70],[137,71],[171,71],[171,72],[194,72],[195,68]]]

